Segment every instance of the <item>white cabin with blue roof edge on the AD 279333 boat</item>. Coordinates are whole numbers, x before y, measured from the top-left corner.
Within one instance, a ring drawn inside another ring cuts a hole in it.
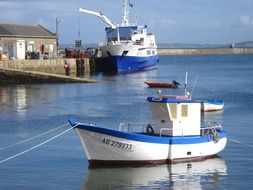
[[[148,97],[155,134],[200,135],[201,105],[192,100]]]

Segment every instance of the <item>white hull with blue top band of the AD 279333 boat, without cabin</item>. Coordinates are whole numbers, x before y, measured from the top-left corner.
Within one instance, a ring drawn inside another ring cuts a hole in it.
[[[212,157],[225,148],[227,138],[213,136],[159,137],[117,131],[89,124],[75,130],[91,166],[111,164],[162,164]]]

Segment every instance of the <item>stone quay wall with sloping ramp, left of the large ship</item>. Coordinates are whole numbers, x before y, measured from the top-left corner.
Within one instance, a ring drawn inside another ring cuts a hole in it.
[[[65,61],[69,64],[66,76]],[[94,82],[84,75],[95,71],[94,59],[46,59],[0,61],[0,84]]]

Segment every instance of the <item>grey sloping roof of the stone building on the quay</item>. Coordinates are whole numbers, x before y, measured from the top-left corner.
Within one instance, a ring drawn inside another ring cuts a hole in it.
[[[0,37],[56,38],[41,25],[0,24]]]

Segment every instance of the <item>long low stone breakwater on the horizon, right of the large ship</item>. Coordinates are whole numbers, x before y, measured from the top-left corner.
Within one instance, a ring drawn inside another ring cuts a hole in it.
[[[253,48],[158,49],[159,55],[253,54]]]

